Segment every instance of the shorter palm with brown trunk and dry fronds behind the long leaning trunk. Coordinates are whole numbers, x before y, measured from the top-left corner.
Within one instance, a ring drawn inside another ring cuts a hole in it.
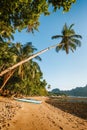
[[[25,45],[22,45],[21,43],[12,44],[10,51],[13,52],[13,54],[14,54],[13,62],[17,63],[17,62],[22,61],[23,59],[31,56],[31,54],[35,50],[37,50],[37,49],[30,42],[26,43]],[[36,57],[36,59],[41,60],[41,58],[39,56]],[[4,75],[3,83],[2,83],[2,86],[0,87],[0,90],[2,90],[4,88],[4,86],[6,85],[8,80],[12,77],[12,75],[14,74],[15,71],[18,71],[18,75],[23,80],[24,75],[25,75],[25,69],[28,68],[29,62],[27,62],[26,64],[21,64],[18,67],[18,69],[12,69],[11,71],[8,71],[8,73],[6,73]]]

